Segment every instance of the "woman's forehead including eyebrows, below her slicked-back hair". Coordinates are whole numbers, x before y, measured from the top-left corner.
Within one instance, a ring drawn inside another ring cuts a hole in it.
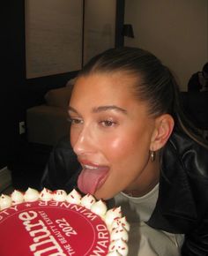
[[[123,73],[93,74],[79,77],[71,94],[70,109],[79,114],[98,113],[93,109],[123,109],[126,117],[148,118],[149,107],[135,95],[138,80]],[[109,108],[110,107],[110,108]]]

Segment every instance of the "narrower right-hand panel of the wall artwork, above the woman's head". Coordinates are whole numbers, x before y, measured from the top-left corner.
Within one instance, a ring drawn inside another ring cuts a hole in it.
[[[115,46],[115,0],[85,0],[84,64]]]

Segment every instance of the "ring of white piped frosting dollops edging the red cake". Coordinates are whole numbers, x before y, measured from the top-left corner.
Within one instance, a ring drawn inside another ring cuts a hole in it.
[[[95,200],[91,194],[86,194],[82,197],[75,189],[69,194],[63,190],[51,192],[46,188],[41,192],[38,192],[33,188],[28,188],[26,192],[14,190],[10,196],[2,194],[0,196],[0,224],[1,220],[4,219],[4,215],[8,208],[26,202],[32,203],[36,201],[40,201],[41,205],[48,205],[49,207],[54,206],[55,204],[57,207],[60,207],[64,203],[65,205],[67,204],[67,207],[72,208],[74,205],[77,205],[91,211],[106,223],[108,228],[110,244],[107,255],[125,256],[128,254],[127,241],[129,238],[128,232],[130,230],[130,225],[122,215],[121,207],[108,209],[103,200]],[[41,203],[41,201],[44,203]]]

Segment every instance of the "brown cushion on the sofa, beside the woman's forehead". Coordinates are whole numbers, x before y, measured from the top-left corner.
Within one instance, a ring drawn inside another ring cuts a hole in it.
[[[51,89],[45,94],[48,106],[67,108],[71,98],[72,86]]]

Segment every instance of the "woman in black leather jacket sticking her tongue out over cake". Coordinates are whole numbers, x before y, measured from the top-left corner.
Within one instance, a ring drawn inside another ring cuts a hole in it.
[[[42,185],[69,191],[78,176],[81,192],[122,205],[130,255],[208,255],[207,148],[167,67],[109,49],[79,73],[69,115],[71,145],[53,151]]]

